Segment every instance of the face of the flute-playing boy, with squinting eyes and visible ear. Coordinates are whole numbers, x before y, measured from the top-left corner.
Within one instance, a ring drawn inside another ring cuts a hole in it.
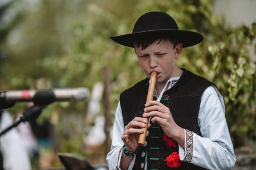
[[[155,41],[146,49],[135,46],[138,63],[143,68],[144,73],[150,78],[152,71],[157,72],[157,85],[165,85],[171,77],[177,77],[179,68],[177,68],[175,59],[182,52],[182,44],[173,44],[168,40],[161,42]]]

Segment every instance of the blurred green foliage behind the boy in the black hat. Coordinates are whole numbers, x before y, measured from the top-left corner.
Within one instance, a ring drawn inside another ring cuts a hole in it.
[[[159,10],[171,15],[181,30],[204,35],[201,44],[183,49],[177,64],[218,86],[225,98],[234,146],[243,144],[241,136],[256,139],[256,23],[230,27],[213,15],[211,0],[27,2],[13,1],[5,10],[14,10],[16,15],[0,30],[2,90],[37,89],[40,79],[44,80],[44,88],[86,86],[91,90],[102,82],[103,68],[108,66],[114,114],[119,93],[145,75],[134,50],[115,44],[109,36],[131,32],[138,16]],[[69,111],[86,115],[86,106],[87,103],[55,104],[45,115]],[[55,120],[59,126],[61,116]],[[81,133],[74,128],[74,136]],[[81,140],[77,136],[76,139]],[[63,143],[69,140],[63,138]],[[81,153],[77,140],[63,146],[65,151]]]

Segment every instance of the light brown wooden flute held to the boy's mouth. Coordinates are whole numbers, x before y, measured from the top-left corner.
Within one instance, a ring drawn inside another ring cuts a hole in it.
[[[150,102],[151,100],[153,100],[154,97],[154,92],[155,92],[155,84],[157,82],[157,72],[152,71],[151,75],[150,75],[150,86],[148,87],[148,95],[147,95],[147,102]],[[143,128],[144,132],[140,134],[140,138],[138,139],[138,145],[140,146],[144,146],[145,144],[145,138],[146,138],[146,134],[147,134],[147,129],[148,129],[148,118],[144,118],[146,122],[145,128]]]

